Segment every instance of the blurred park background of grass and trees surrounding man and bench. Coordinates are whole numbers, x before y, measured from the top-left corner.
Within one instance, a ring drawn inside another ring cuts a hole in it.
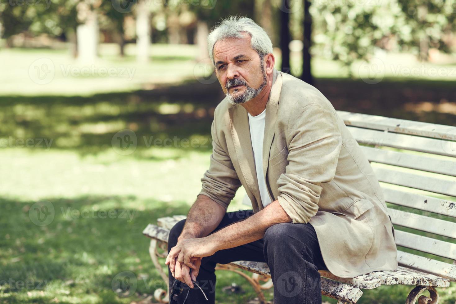
[[[141,232],[200,191],[223,98],[206,37],[228,15],[263,26],[276,68],[337,110],[456,126],[456,0],[0,0],[0,303],[153,303],[166,289]],[[230,272],[217,293],[255,297]]]

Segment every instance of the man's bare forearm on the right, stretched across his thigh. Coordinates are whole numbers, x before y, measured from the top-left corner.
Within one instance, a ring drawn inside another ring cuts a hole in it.
[[[259,240],[264,237],[269,227],[288,222],[291,222],[290,216],[280,206],[279,201],[274,201],[249,218],[229,225],[206,238],[218,251]]]

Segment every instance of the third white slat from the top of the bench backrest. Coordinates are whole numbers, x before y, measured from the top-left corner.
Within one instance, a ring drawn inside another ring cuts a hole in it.
[[[361,146],[369,161],[387,165],[456,176],[456,161]]]

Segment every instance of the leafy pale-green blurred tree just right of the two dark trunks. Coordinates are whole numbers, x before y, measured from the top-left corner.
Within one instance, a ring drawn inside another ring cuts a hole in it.
[[[407,26],[394,0],[363,0],[363,3],[316,1],[310,7],[313,40],[318,53],[350,66],[358,59],[372,57],[385,37],[394,37]]]

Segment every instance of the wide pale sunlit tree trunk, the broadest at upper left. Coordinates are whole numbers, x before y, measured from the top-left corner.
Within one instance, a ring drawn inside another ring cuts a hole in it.
[[[86,10],[85,23],[76,28],[78,60],[93,62],[98,55],[98,18],[97,13],[88,6],[83,9]]]

